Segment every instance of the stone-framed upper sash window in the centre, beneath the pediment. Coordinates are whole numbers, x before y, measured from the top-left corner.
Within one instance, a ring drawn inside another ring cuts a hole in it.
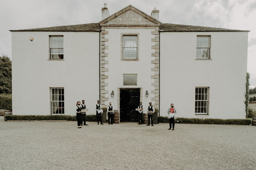
[[[121,33],[121,60],[139,61],[139,33]]]

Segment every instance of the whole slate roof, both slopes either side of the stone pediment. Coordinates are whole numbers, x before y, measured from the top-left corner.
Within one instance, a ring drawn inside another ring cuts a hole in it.
[[[69,25],[69,26],[53,26],[46,28],[33,28],[24,30],[10,30],[12,31],[60,31],[60,32],[87,32],[87,31],[99,31],[101,27],[99,23],[80,24],[80,25]],[[159,27],[160,31],[165,32],[249,32],[248,30],[233,30],[225,28],[213,28],[205,26],[188,26],[180,24],[161,24]]]

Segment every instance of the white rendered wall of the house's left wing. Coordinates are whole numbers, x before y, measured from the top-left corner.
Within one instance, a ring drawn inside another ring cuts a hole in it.
[[[48,60],[49,35],[63,35],[64,60]],[[12,32],[13,115],[51,115],[50,87],[64,87],[65,115],[76,115],[76,102],[82,100],[95,114],[98,32]]]

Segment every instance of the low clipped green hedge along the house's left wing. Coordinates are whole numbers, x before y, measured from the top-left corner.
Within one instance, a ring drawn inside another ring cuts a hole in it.
[[[76,116],[71,115],[5,115],[6,121],[41,121],[41,120],[67,120],[76,121]],[[96,122],[96,115],[86,115],[86,121]]]

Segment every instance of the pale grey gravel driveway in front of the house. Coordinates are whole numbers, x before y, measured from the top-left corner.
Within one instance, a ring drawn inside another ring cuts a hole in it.
[[[0,169],[256,169],[256,127],[4,122]]]

